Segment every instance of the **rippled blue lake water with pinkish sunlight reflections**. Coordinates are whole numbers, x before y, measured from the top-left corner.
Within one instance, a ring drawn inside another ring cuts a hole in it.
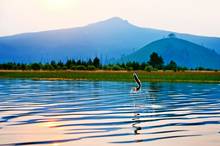
[[[220,84],[0,80],[0,145],[219,146]]]

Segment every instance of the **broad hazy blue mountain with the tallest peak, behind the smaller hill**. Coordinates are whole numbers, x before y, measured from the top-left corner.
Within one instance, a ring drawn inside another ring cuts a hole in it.
[[[47,62],[94,56],[106,60],[130,54],[169,33],[140,28],[116,17],[84,27],[0,37],[0,62]],[[177,35],[220,52],[220,38]]]

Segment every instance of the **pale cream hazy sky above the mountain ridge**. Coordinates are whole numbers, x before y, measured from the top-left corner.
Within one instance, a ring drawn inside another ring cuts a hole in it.
[[[220,37],[220,0],[0,0],[0,36],[111,17],[141,27]]]

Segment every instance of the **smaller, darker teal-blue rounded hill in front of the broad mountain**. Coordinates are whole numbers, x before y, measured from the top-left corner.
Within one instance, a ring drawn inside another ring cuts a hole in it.
[[[215,51],[176,37],[154,41],[138,51],[122,57],[120,61],[147,62],[153,52],[162,56],[166,64],[173,60],[178,65],[189,68],[220,69],[220,55]]]

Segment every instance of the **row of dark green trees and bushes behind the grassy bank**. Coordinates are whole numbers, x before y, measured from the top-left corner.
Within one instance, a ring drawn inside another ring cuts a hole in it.
[[[168,64],[164,64],[164,60],[157,53],[153,52],[150,55],[149,61],[145,63],[128,62],[102,65],[100,59],[95,57],[87,61],[68,59],[66,62],[51,61],[50,63],[3,63],[0,64],[1,70],[145,70],[145,71],[157,71],[157,70],[173,70],[184,71],[188,70],[186,67],[178,66],[175,61],[170,61]],[[205,70],[204,68],[198,68],[197,70]],[[207,69],[206,69],[207,70]]]

